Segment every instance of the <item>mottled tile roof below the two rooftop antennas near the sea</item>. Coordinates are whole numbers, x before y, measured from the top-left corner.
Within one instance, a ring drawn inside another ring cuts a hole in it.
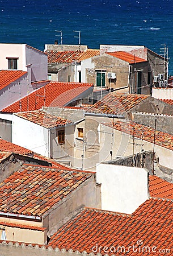
[[[99,50],[88,49],[87,51],[45,51],[48,55],[48,63],[72,63],[81,61],[100,54]]]

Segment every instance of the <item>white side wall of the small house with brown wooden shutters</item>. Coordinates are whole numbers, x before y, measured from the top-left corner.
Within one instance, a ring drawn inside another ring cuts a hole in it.
[[[12,115],[12,143],[49,157],[48,129]]]

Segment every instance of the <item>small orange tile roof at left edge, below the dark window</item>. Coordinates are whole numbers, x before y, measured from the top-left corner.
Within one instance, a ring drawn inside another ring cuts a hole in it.
[[[7,85],[11,84],[18,80],[23,75],[27,74],[27,72],[19,71],[19,70],[1,70],[0,71],[0,90],[5,88]]]

